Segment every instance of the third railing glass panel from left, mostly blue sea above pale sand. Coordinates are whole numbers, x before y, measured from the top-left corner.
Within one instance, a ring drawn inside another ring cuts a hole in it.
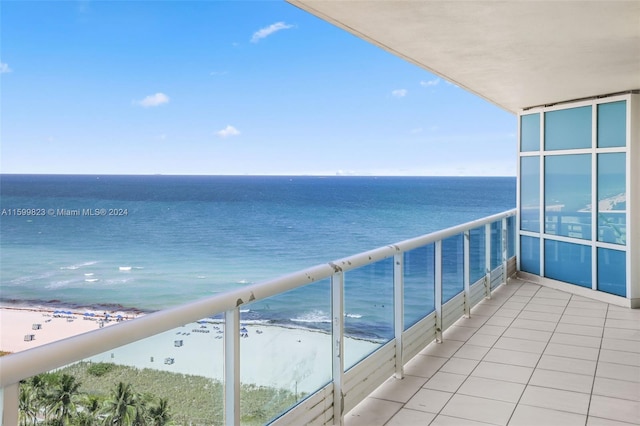
[[[393,338],[393,258],[344,274],[345,370]]]

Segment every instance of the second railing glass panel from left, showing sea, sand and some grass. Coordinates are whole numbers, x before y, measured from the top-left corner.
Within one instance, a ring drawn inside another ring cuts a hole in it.
[[[330,280],[247,304],[240,315],[241,423],[267,423],[331,381]]]

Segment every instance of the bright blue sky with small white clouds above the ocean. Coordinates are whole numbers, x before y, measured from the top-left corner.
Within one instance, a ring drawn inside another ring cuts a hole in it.
[[[0,7],[3,173],[515,175],[515,116],[283,1]]]

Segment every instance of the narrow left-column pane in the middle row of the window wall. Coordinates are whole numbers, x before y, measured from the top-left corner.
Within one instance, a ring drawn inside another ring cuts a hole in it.
[[[520,158],[520,229],[540,232],[540,157]]]

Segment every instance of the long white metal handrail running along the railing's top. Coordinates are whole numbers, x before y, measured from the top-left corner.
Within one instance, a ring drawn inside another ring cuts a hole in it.
[[[72,364],[211,315],[229,312],[246,303],[263,300],[330,278],[336,273],[360,268],[427,244],[442,241],[465,231],[515,216],[515,214],[516,209],[508,210],[241,289],[157,311],[131,321],[6,355],[0,358],[0,388],[4,389],[16,385],[20,380],[34,375]]]

